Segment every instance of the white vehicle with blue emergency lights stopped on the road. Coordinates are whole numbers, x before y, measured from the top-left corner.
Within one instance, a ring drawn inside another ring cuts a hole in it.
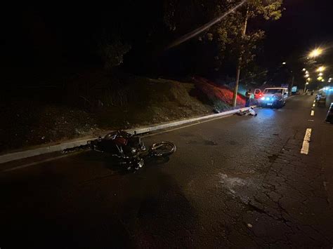
[[[288,98],[288,88],[266,88],[258,99],[259,107],[277,107],[285,105]]]

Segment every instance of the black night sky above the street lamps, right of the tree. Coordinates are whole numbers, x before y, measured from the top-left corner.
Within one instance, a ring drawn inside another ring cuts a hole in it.
[[[333,1],[285,0],[278,21],[266,23],[265,52],[273,63],[296,60],[333,41]],[[327,51],[332,54],[333,51]]]

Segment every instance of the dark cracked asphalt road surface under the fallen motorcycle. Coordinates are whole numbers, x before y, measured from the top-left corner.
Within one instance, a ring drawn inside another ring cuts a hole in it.
[[[96,152],[1,172],[0,248],[332,248],[333,126],[313,100],[144,137],[177,152],[138,173]]]

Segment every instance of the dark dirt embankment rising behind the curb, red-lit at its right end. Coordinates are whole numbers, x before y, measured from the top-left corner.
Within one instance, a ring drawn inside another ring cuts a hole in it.
[[[204,79],[184,83],[132,76],[110,81],[103,74],[81,75],[65,89],[30,89],[3,98],[0,153],[230,108],[230,89]]]

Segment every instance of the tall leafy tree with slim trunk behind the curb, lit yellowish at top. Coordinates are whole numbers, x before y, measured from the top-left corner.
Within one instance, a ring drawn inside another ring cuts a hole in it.
[[[240,0],[212,0],[209,2],[204,0],[169,0],[166,4],[164,21],[169,29],[175,33],[177,30],[189,29],[190,26],[193,29],[193,27],[198,27],[223,15],[240,2]],[[218,48],[216,50],[218,52],[214,56],[215,69],[228,65],[230,62],[237,65],[234,98],[237,94],[240,69],[245,68],[249,62],[254,60],[259,41],[265,36],[265,33],[260,29],[254,27],[248,29],[248,23],[259,18],[278,20],[281,14],[282,0],[247,0],[241,8],[237,8],[221,22],[198,36],[199,43],[205,46],[207,43],[211,43]],[[197,23],[195,24],[195,22]]]

